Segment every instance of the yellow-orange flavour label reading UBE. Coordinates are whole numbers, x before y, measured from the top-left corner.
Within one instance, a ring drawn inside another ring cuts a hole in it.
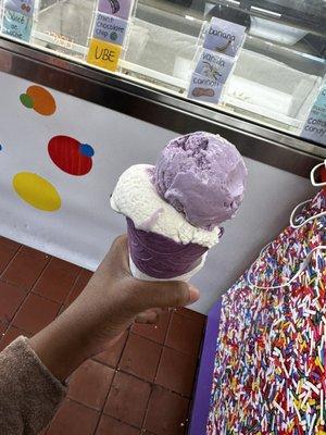
[[[114,44],[91,39],[87,62],[109,71],[116,71],[122,48]]]

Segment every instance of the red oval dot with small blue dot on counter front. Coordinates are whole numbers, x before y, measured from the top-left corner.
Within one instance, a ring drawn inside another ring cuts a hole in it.
[[[92,167],[95,151],[88,144],[80,144],[68,136],[54,136],[48,145],[52,162],[71,175],[86,175]]]

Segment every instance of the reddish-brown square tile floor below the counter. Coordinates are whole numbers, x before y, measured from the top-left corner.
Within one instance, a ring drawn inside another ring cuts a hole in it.
[[[83,291],[91,272],[0,237],[0,350],[32,336]],[[134,325],[86,361],[42,435],[186,434],[205,316],[187,309]]]

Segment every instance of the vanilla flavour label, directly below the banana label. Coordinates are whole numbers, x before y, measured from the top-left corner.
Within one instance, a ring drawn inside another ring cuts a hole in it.
[[[235,59],[203,50],[195,69],[195,73],[225,84],[235,64]]]

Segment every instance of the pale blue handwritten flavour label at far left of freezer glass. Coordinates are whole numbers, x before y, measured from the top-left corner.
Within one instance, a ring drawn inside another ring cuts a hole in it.
[[[21,14],[20,12],[4,10],[2,33],[26,42],[30,39],[33,17]]]

